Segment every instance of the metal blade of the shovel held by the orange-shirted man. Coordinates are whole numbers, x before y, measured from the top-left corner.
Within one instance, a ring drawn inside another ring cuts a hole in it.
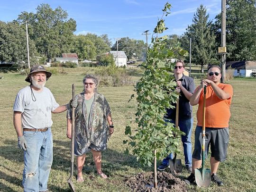
[[[211,182],[210,169],[195,169],[195,180],[199,187],[209,187]]]

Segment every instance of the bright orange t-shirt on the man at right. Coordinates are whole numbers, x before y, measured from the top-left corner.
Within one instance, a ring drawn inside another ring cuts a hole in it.
[[[220,100],[215,94],[211,86],[206,88],[205,101],[205,126],[212,128],[229,127],[230,118],[230,104],[233,96],[233,88],[230,84],[219,83],[218,87],[223,91],[229,93],[230,98],[227,100]],[[199,89],[197,87],[196,89]],[[203,89],[200,94],[199,106],[197,110],[197,125],[203,125]]]

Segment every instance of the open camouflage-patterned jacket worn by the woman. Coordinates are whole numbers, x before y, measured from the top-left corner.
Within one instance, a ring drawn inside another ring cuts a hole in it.
[[[84,92],[76,95],[75,100],[77,101],[77,107],[75,108],[74,154],[80,156],[91,149],[96,151],[105,150],[109,136],[107,117],[111,113],[108,101],[102,94],[95,92],[89,121],[87,122]],[[72,118],[72,109],[67,111],[67,118]]]

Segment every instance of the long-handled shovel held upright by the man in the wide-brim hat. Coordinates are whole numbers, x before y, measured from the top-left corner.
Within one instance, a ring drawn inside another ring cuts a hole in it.
[[[75,97],[75,84],[72,85],[72,99]],[[74,171],[74,110],[72,107],[72,128],[71,128],[71,168],[70,168],[70,177],[68,179],[68,186],[71,192],[75,192],[74,184],[72,182],[73,171]]]

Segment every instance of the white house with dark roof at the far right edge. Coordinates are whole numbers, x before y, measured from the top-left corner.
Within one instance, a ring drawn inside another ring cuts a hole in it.
[[[226,70],[234,69],[234,76],[250,77],[256,74],[256,61],[227,61]]]

